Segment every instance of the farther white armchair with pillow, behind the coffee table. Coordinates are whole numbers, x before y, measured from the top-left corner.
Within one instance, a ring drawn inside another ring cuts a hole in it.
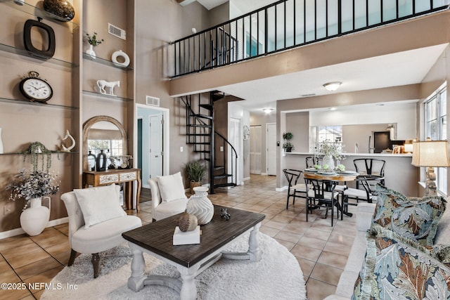
[[[153,220],[158,221],[186,210],[188,197],[184,193],[180,172],[148,179],[152,195]]]

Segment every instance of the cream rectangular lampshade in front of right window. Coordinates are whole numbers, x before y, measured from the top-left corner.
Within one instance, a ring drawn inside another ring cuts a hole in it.
[[[413,159],[416,167],[449,167],[447,141],[413,142]]]

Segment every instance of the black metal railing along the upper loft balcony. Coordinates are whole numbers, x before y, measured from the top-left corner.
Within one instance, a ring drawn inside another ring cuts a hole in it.
[[[173,41],[172,77],[415,18],[450,0],[281,0]]]

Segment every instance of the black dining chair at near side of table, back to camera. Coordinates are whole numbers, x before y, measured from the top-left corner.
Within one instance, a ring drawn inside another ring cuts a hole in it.
[[[312,214],[312,209],[318,209],[321,206],[325,206],[326,212],[323,219],[327,218],[328,209],[331,209],[331,226],[333,227],[335,207],[337,207],[336,213],[338,219],[339,211],[342,210],[340,209],[338,202],[339,193],[335,192],[335,187],[338,184],[338,181],[304,178],[304,183],[307,186],[311,186],[311,189],[308,190],[306,200],[307,221],[309,211],[311,211]]]

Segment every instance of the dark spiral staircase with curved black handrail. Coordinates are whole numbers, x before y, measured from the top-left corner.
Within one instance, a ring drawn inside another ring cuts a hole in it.
[[[224,136],[214,131],[214,102],[224,98],[224,93],[211,91],[205,94],[181,97],[186,107],[186,143],[193,145],[193,152],[200,153],[200,159],[209,162],[210,193],[215,188],[236,186],[238,154]],[[231,149],[231,162],[227,153]],[[227,170],[227,167],[228,170]]]

